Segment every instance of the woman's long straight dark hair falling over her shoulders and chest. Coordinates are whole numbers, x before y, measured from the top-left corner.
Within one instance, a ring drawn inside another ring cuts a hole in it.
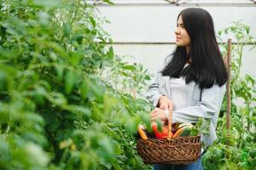
[[[190,37],[190,50],[187,54],[184,47],[177,47],[171,54],[172,60],[161,71],[163,76],[185,77],[185,82],[195,81],[200,88],[211,88],[227,81],[224,60],[218,48],[211,14],[202,8],[185,8],[177,16]],[[192,62],[183,69],[188,59]]]

